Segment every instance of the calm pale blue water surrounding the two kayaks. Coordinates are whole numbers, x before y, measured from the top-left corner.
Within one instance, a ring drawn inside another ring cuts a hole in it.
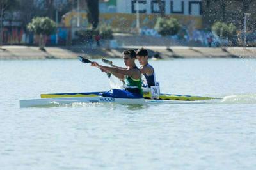
[[[108,79],[77,60],[0,61],[1,169],[255,169],[256,60],[151,63],[164,93],[225,99],[20,109],[40,93],[108,90]]]

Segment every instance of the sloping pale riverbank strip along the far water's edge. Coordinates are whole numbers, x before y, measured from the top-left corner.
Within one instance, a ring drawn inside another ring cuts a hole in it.
[[[140,46],[123,46],[115,49],[89,48],[83,46],[45,47],[45,51],[31,46],[3,46],[0,59],[74,59],[77,55],[88,58],[122,58],[125,49],[138,49]],[[147,46],[149,56],[163,59],[173,58],[256,58],[255,47],[167,47]]]

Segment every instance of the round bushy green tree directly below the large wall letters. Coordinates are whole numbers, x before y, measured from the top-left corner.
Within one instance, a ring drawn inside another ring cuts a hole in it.
[[[176,35],[181,28],[177,19],[158,18],[155,29],[162,36]]]

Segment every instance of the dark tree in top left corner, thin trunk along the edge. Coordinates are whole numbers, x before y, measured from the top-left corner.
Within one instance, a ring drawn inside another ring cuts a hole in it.
[[[17,5],[16,0],[0,0],[0,47],[3,45],[3,17],[4,12],[14,8]]]

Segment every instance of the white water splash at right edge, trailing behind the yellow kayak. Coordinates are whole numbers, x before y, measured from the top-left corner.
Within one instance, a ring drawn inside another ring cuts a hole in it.
[[[221,103],[225,104],[256,104],[256,94],[230,95],[223,97]]]

